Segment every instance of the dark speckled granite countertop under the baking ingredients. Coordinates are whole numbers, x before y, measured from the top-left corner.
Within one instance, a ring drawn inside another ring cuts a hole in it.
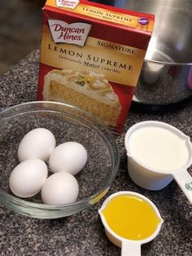
[[[36,100],[39,51],[21,60],[0,78],[0,108]],[[138,121],[156,120],[176,126],[192,138],[192,102],[167,113],[142,113],[133,108],[125,131]],[[107,193],[122,190],[142,193],[158,207],[163,227],[154,241],[142,245],[142,255],[192,255],[192,208],[175,181],[167,188],[151,192],[137,187],[126,166],[124,133],[116,136],[120,169]],[[190,167],[190,174],[192,168]],[[0,206],[1,255],[120,255],[120,249],[105,236],[96,205],[67,218],[29,218]]]

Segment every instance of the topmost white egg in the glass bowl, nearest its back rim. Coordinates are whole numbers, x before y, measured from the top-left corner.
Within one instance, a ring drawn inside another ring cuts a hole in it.
[[[19,161],[37,158],[46,161],[55,145],[55,136],[50,130],[45,128],[33,129],[20,142],[18,148]]]

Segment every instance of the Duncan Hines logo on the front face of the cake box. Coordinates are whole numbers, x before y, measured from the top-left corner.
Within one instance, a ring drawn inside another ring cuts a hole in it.
[[[55,42],[66,42],[84,46],[91,25],[81,22],[68,24],[63,20],[48,20],[50,33]]]

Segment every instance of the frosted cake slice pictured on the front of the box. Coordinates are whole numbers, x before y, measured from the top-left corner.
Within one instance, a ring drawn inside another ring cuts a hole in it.
[[[43,99],[82,108],[107,126],[116,126],[122,106],[103,73],[54,69],[44,77]]]

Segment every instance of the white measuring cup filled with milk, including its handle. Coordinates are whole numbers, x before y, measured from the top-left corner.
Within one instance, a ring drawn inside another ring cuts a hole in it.
[[[142,121],[124,138],[130,178],[138,186],[159,190],[175,179],[192,204],[192,143],[176,127],[161,121]]]

